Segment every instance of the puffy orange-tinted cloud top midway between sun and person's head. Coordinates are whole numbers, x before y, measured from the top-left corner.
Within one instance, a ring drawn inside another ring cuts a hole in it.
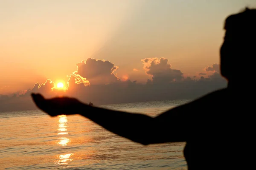
[[[183,73],[172,69],[168,59],[145,58],[141,61],[144,64],[145,73],[152,76],[152,83],[169,83],[183,79]]]

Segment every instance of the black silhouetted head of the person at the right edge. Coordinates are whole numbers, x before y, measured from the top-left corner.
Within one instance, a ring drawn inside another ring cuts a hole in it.
[[[227,17],[226,34],[221,46],[221,74],[228,81],[237,82],[251,74],[256,57],[256,9]],[[241,77],[243,76],[243,77]]]

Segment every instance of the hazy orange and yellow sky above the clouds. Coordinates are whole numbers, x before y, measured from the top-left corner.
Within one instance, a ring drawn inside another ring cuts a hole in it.
[[[164,57],[184,76],[219,63],[225,18],[255,0],[1,0],[0,94],[67,82],[87,58],[146,82],[141,59]],[[134,71],[134,69],[136,71]]]

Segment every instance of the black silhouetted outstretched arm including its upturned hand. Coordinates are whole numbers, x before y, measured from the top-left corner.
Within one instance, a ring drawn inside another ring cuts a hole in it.
[[[32,98],[38,108],[50,116],[80,114],[105,129],[140,144],[186,140],[186,116],[180,112],[180,107],[153,118],[140,113],[93,107],[69,97],[44,99],[40,94],[32,94]]]

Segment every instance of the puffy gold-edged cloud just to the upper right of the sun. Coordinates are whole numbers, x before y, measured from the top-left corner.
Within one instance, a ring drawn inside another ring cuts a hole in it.
[[[87,79],[91,85],[108,84],[119,81],[114,72],[118,68],[113,63],[105,60],[88,58],[76,64],[75,75]]]

